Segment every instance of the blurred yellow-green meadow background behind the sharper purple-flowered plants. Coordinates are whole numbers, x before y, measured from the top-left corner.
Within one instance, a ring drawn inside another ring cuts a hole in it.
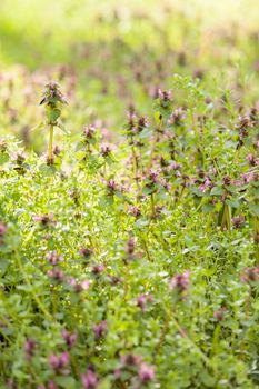
[[[148,112],[173,73],[256,104],[258,20],[257,0],[1,0],[0,131],[29,146],[52,79],[70,101],[70,128],[91,121],[117,132],[126,110]]]

